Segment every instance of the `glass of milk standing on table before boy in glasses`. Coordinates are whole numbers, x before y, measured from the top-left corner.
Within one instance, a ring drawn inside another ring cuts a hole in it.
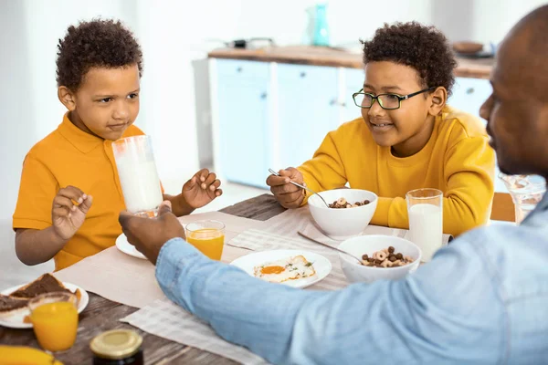
[[[437,189],[416,189],[406,193],[409,237],[428,262],[441,247],[443,235],[443,193]]]

